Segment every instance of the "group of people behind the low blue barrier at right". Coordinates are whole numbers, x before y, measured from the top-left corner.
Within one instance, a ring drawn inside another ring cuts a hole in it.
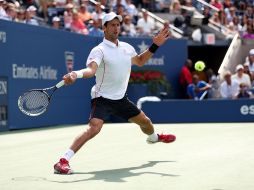
[[[183,99],[199,99],[205,91],[206,98],[211,99],[254,98],[254,49],[249,50],[245,62],[236,65],[233,72],[222,73],[222,79],[211,69],[193,70],[192,61],[187,59],[179,76]]]

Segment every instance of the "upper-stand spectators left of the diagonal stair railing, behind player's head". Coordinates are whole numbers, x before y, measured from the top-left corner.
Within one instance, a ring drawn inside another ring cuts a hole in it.
[[[131,0],[0,0],[0,19],[91,36],[103,36],[101,20],[109,11],[123,16],[123,36],[150,36],[156,30],[154,20]]]

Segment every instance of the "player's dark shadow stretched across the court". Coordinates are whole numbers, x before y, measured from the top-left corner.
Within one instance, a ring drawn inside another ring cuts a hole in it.
[[[160,172],[152,172],[152,171],[145,171],[145,172],[138,172],[137,170],[145,169],[145,168],[152,168],[156,164],[159,163],[167,163],[167,162],[174,162],[174,161],[149,161],[146,164],[136,167],[129,167],[129,168],[119,168],[119,169],[112,169],[112,170],[101,170],[101,171],[93,171],[93,172],[74,172],[73,174],[80,174],[80,175],[93,175],[92,177],[85,178],[85,179],[78,179],[78,180],[68,180],[68,181],[57,181],[57,180],[47,180],[56,183],[74,183],[74,182],[83,182],[83,181],[90,181],[90,180],[101,180],[105,182],[126,182],[125,179],[128,177],[134,176],[141,176],[143,174],[153,174],[153,175],[160,175],[160,176],[167,176],[167,177],[177,177],[179,175],[169,174],[169,173],[160,173]]]

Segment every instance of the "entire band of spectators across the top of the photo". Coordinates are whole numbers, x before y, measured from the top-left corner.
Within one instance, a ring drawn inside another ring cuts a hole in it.
[[[95,2],[95,3],[92,3]],[[254,39],[254,10],[251,0],[0,0],[0,19],[43,25],[89,35],[101,36],[101,18],[114,11],[123,16],[123,36],[150,36],[158,25],[141,8],[165,13],[166,21],[188,30],[193,16],[199,14],[202,25],[220,26],[221,32],[232,37]],[[58,24],[57,24],[58,23]]]

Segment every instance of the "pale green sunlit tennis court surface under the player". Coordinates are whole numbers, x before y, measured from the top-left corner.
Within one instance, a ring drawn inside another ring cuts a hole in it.
[[[0,190],[253,190],[254,123],[157,124],[174,143],[147,144],[134,124],[105,124],[70,162],[53,165],[86,125],[0,133]]]

